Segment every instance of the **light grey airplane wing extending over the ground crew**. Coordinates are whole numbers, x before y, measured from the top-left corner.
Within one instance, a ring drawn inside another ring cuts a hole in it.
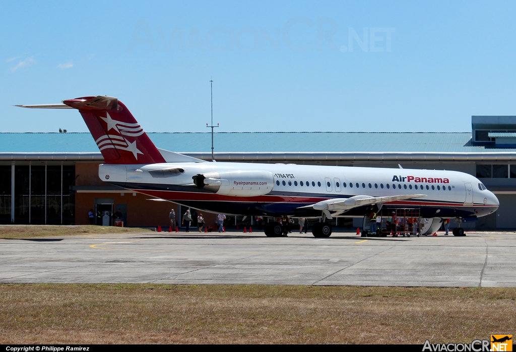
[[[379,203],[388,203],[395,200],[405,200],[412,198],[422,198],[427,195],[422,194],[412,194],[412,195],[400,195],[400,196],[388,196],[388,197],[372,197],[372,196],[354,196],[347,199],[336,198],[336,199],[327,199],[320,201],[315,204],[302,206],[303,208],[312,207],[315,210],[323,211],[328,218],[331,219],[330,212],[336,212],[332,215],[340,215],[350,209],[353,209],[357,206],[363,205],[371,205],[371,204],[379,204]]]

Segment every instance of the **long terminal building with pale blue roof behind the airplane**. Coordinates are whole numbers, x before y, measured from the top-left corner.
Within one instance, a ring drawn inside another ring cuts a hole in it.
[[[472,116],[471,132],[215,133],[224,162],[403,167],[475,175],[499,199],[476,230],[516,229],[516,116]],[[209,133],[148,133],[156,147],[210,161]],[[0,133],[0,223],[86,225],[88,212],[120,210],[124,226],[168,227],[184,209],[109,185],[89,133]],[[203,214],[209,224],[214,214]],[[236,221],[237,219],[235,219]],[[339,219],[335,226],[352,226]]]

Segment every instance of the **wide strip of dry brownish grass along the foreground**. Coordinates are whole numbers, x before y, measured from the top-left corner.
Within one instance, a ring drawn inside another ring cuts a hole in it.
[[[2,284],[0,344],[471,342],[516,326],[516,289]]]

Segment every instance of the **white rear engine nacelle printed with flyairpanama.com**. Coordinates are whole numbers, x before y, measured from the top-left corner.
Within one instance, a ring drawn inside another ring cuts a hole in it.
[[[199,173],[192,179],[197,188],[224,196],[263,196],[274,188],[272,173],[264,170],[212,171]]]

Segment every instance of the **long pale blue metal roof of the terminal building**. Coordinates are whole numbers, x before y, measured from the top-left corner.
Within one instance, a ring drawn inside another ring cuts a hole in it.
[[[211,152],[210,133],[148,133],[156,147]],[[215,152],[516,152],[473,146],[471,132],[218,132]],[[99,152],[89,133],[0,133],[0,153]]]

